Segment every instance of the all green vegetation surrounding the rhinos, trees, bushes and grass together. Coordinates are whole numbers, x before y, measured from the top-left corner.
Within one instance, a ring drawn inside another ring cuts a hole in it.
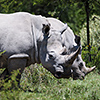
[[[10,81],[0,80],[0,100],[100,100],[100,0],[88,0],[90,17],[91,59],[88,61],[86,37],[87,0],[0,0],[1,13],[29,12],[46,17],[55,17],[68,23],[75,34],[80,35],[83,46],[82,58],[87,67],[96,65],[97,69],[83,81],[56,79],[42,65],[26,68],[22,74],[21,87],[17,87],[14,72]],[[1,55],[2,53],[0,53]],[[0,73],[3,70],[0,70]],[[15,84],[13,88],[11,85]],[[33,91],[32,93],[28,90]]]

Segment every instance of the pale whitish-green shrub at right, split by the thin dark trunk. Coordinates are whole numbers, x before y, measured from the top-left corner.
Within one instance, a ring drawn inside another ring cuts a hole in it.
[[[93,15],[89,21],[89,30],[90,30],[90,45],[94,47],[100,46],[100,17]],[[79,33],[81,37],[82,46],[87,44],[87,28],[86,23],[83,24],[83,28]]]

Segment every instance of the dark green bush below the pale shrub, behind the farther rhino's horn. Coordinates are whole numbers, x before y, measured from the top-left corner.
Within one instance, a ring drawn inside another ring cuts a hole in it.
[[[89,54],[91,55],[91,61],[89,61]],[[96,66],[100,71],[100,51],[97,47],[92,46],[90,52],[88,51],[88,47],[83,48],[82,58],[86,62],[86,66]]]

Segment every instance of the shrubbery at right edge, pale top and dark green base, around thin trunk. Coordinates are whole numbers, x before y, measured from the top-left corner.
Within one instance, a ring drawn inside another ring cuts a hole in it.
[[[81,44],[83,46],[82,58],[86,62],[88,67],[96,66],[100,71],[100,17],[93,15],[89,21],[90,30],[90,46],[91,50],[88,52],[87,45],[87,29],[86,23],[84,23],[79,35],[81,37]],[[91,62],[89,61],[89,54],[91,55]]]

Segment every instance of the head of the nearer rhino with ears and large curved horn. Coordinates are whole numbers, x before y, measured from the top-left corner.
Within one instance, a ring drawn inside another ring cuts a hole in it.
[[[64,78],[66,68],[71,66],[80,52],[80,47],[71,54],[64,54],[66,48],[62,44],[61,35],[67,29],[67,24],[56,30],[49,25],[43,25],[44,39],[40,48],[40,60],[48,71],[56,78]]]

